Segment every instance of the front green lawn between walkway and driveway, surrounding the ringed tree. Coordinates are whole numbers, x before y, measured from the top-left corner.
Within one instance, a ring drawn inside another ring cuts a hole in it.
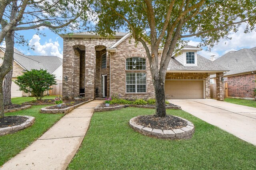
[[[132,117],[153,114],[154,109],[96,112],[68,169],[256,169],[255,146],[185,111],[167,112],[194,123],[192,139],[154,139],[129,127]]]

